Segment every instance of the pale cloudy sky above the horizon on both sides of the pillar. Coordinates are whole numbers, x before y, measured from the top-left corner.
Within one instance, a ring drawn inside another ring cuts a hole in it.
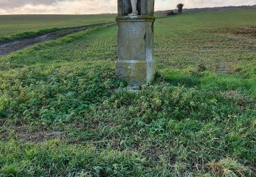
[[[255,5],[256,0],[156,0],[156,10],[227,5]],[[101,14],[116,13],[117,0],[0,0],[0,14]]]

